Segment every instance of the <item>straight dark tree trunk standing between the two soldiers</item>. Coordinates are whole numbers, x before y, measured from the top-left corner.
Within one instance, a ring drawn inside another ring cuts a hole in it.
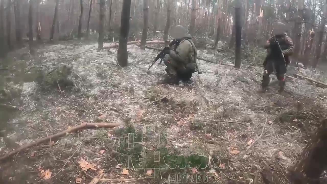
[[[234,67],[241,67],[241,38],[242,38],[242,22],[241,22],[241,0],[236,1],[235,5],[235,62]]]

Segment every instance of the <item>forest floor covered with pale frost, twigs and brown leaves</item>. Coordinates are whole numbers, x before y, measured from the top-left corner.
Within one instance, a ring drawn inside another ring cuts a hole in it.
[[[262,67],[244,60],[236,69],[224,65],[232,64],[232,52],[214,56],[203,49],[198,56],[211,61],[200,60],[203,73],[192,83],[168,85],[160,83],[163,63],[147,71],[158,51],[129,45],[122,68],[116,48],[96,48],[74,41],[40,47],[37,58],[26,48],[11,53],[11,69],[0,72],[6,89],[21,89],[21,105],[0,155],[82,122],[123,125],[82,130],[19,153],[0,165],[4,183],[89,183],[100,171],[104,183],[194,183],[195,175],[203,183],[250,184],[262,183],[265,168],[287,183],[287,169],[326,114],[327,89],[293,77],[325,82],[319,70],[289,67],[285,92],[277,93],[272,75],[262,93]],[[44,91],[27,80],[31,68],[60,65],[73,67],[70,90]]]

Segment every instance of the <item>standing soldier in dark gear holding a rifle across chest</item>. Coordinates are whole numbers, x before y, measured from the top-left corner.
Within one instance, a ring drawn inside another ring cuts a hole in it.
[[[285,81],[284,74],[286,67],[290,63],[289,56],[293,54],[293,42],[290,37],[286,35],[286,26],[281,22],[273,25],[272,37],[267,40],[264,48],[267,49],[267,56],[263,63],[265,68],[262,78],[262,89],[267,90],[269,85],[269,75],[275,70],[276,76],[279,81],[279,90],[281,93],[284,91]]]

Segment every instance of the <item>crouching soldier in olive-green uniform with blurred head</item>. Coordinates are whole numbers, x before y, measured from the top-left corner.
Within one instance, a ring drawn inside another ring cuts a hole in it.
[[[163,62],[166,65],[168,78],[166,83],[179,84],[180,80],[188,81],[192,74],[201,71],[197,64],[197,49],[192,37],[182,26],[171,29],[171,36],[175,39],[164,53]]]

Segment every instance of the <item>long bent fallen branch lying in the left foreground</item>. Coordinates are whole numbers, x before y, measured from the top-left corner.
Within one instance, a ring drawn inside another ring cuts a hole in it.
[[[83,123],[83,124],[68,128],[68,129],[66,129],[64,131],[61,131],[61,132],[57,133],[57,134],[37,139],[34,142],[31,142],[31,143],[29,143],[29,144],[27,144],[25,146],[22,146],[22,147],[14,150],[14,151],[11,151],[6,155],[1,156],[0,157],[0,162],[5,161],[5,159],[9,159],[11,156],[18,154],[19,152],[24,151],[27,148],[31,148],[31,147],[37,146],[37,145],[39,145],[39,144],[41,144],[43,142],[47,142],[47,141],[50,141],[50,140],[60,138],[60,137],[62,137],[64,135],[72,133],[72,132],[76,132],[76,131],[79,131],[79,130],[82,130],[82,129],[87,129],[87,128],[89,128],[89,129],[91,129],[91,128],[113,128],[113,127],[116,127],[116,126],[119,126],[119,125],[121,125],[121,124],[120,123]]]

